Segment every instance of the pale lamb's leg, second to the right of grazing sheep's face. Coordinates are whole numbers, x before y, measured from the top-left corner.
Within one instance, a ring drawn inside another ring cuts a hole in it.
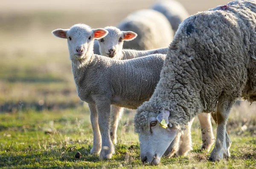
[[[192,140],[191,140],[191,126],[195,118],[189,121],[189,124],[185,126],[186,130],[183,131],[183,135],[180,136],[180,146],[179,151],[176,155],[186,155],[190,150],[192,150]]]

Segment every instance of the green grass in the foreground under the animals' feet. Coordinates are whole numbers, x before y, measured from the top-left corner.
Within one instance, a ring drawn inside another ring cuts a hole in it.
[[[193,151],[187,157],[162,158],[160,166],[140,162],[133,112],[119,124],[116,153],[111,160],[90,155],[92,129],[87,106],[76,109],[0,114],[0,167],[7,168],[255,168],[256,140],[248,132],[230,133],[230,159],[212,163],[209,152],[201,152],[198,121],[192,126]],[[236,129],[235,129],[236,130]],[[81,159],[75,158],[81,152]]]

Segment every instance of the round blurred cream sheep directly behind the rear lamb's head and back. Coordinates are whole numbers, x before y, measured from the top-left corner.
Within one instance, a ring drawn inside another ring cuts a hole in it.
[[[167,47],[174,36],[167,18],[153,9],[135,11],[122,20],[117,28],[138,34],[135,40],[124,43],[124,49],[150,50]]]

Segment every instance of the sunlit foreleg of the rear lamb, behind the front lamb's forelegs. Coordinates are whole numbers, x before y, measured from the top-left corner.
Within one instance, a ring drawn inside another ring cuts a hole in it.
[[[119,118],[122,116],[123,108],[111,106],[112,123],[110,129],[110,137],[114,144],[116,144],[116,130],[118,127]]]

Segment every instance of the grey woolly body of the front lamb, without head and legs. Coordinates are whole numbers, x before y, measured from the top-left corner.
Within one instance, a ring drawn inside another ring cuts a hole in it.
[[[132,60],[114,60],[95,54],[81,69],[72,65],[78,95],[90,104],[100,99],[108,100],[111,105],[137,109],[153,94],[164,59],[163,54]]]

